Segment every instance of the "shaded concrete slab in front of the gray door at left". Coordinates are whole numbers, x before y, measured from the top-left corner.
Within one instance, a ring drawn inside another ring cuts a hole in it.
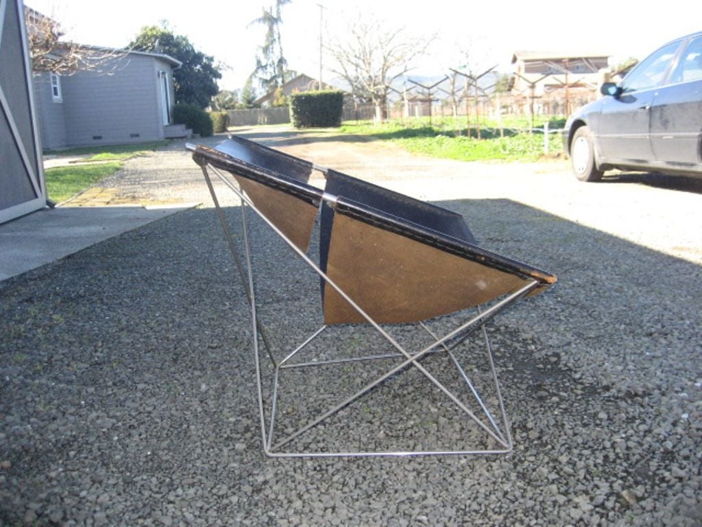
[[[0,280],[195,206],[57,207],[0,224]]]

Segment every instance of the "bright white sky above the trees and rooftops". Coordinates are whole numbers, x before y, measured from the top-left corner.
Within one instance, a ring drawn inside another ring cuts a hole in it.
[[[58,20],[67,38],[81,44],[123,47],[145,25],[168,20],[176,34],[229,69],[220,88],[241,88],[253,71],[265,28],[249,26],[272,0],[25,0]],[[282,8],[283,50],[289,67],[319,77],[320,8],[324,41],[343,39],[348,20],[361,12],[387,27],[405,27],[411,38],[438,37],[430,55],[412,73],[440,75],[461,65],[461,49],[471,47],[486,63],[509,67],[517,50],[582,50],[617,59],[643,58],[665,41],[702,30],[702,6],[691,0],[633,4],[621,0],[449,1],[292,0]],[[637,6],[637,7],[635,7]],[[328,58],[322,65],[329,63]],[[326,71],[323,76],[331,77]]]

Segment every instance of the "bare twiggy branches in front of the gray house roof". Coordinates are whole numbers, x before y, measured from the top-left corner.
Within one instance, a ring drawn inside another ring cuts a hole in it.
[[[126,55],[126,50],[85,46],[63,41],[64,33],[53,18],[25,8],[29,54],[32,69],[70,75],[81,70],[114,68],[113,59]]]

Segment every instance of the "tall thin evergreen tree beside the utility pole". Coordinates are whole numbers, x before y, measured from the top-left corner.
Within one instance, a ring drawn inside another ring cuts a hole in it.
[[[263,14],[253,20],[250,25],[263,25],[266,27],[263,46],[260,46],[256,56],[256,70],[253,75],[258,79],[260,87],[266,92],[282,86],[286,81],[288,62],[283,56],[283,44],[280,39],[280,25],[283,23],[280,10],[291,0],[276,0],[275,7],[263,8]]]

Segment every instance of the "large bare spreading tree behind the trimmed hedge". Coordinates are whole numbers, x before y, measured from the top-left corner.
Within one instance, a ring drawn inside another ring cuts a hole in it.
[[[355,96],[375,105],[376,117],[387,119],[390,85],[411,70],[413,60],[425,53],[433,37],[413,39],[404,27],[391,29],[378,20],[363,18],[352,22],[347,32],[347,41],[326,46],[336,60],[331,71],[350,84]]]

